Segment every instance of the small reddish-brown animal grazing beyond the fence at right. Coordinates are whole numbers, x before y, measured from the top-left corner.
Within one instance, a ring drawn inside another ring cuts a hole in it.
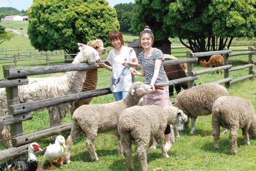
[[[224,65],[224,59],[220,54],[212,55],[208,62],[204,60],[204,61],[200,61],[200,64],[202,67],[208,67],[208,66],[211,66],[212,68],[219,67]],[[216,71],[216,73],[219,73],[219,71]],[[221,70],[220,70],[220,73],[222,74]]]

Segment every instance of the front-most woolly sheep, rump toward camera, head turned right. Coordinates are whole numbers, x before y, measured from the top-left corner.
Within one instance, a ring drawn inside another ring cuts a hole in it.
[[[177,130],[182,130],[187,119],[188,117],[182,110],[173,106],[145,105],[133,106],[124,110],[119,117],[118,132],[129,170],[134,169],[131,159],[132,140],[137,143],[141,171],[148,171],[147,148],[150,136],[154,136],[156,141],[162,144],[162,154],[168,158],[169,155],[163,144],[166,125],[172,124]]]

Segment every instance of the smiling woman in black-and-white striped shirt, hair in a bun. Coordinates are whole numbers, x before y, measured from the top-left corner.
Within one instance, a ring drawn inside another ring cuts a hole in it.
[[[169,106],[169,81],[163,67],[163,52],[152,47],[154,35],[149,28],[145,28],[140,32],[139,40],[144,49],[137,57],[141,71],[138,72],[130,68],[130,72],[132,75],[145,77],[145,84],[152,87],[152,91],[143,97],[143,105]],[[150,149],[154,150],[156,146],[157,142],[153,137]],[[165,149],[169,150],[171,147],[170,125],[167,125],[165,130]]]

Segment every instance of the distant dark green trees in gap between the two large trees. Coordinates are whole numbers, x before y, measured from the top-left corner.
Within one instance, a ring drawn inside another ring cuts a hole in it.
[[[121,32],[129,32],[131,17],[134,14],[134,3],[119,3],[114,6],[117,11]]]

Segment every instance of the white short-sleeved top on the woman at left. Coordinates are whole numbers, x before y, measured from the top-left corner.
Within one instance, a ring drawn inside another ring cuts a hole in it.
[[[129,66],[123,66],[125,61],[132,62],[136,59],[136,54],[133,48],[123,46],[120,54],[116,54],[115,49],[109,52],[107,61],[112,65],[112,77],[110,89],[112,92],[128,91],[131,83],[131,74]]]

